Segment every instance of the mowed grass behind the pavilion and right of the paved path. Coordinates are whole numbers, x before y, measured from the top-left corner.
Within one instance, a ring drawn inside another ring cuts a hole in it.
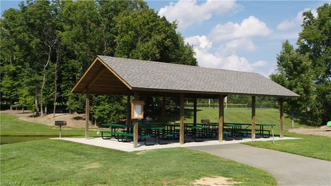
[[[193,110],[185,109],[185,122],[193,122]],[[210,122],[217,122],[219,110],[217,108],[198,108],[197,122],[201,119],[210,119]],[[228,123],[251,123],[251,110],[225,110],[224,121]],[[285,131],[292,127],[292,118],[287,114],[284,115]],[[177,118],[177,116],[172,116]],[[256,110],[257,123],[272,123],[274,127],[274,134],[279,135],[279,110],[268,109],[268,110]],[[178,121],[177,121],[178,122]],[[294,118],[294,127],[309,127],[300,123],[298,118]],[[250,142],[245,143],[246,145],[252,145],[256,147],[263,147],[267,149],[275,149],[282,152],[288,152],[292,154],[299,154],[302,156],[309,156],[312,158],[319,158],[327,161],[331,161],[331,138],[325,136],[314,136],[305,134],[296,134],[292,132],[285,132],[285,136],[301,138],[296,140],[276,141],[272,144],[272,141],[265,142]]]

